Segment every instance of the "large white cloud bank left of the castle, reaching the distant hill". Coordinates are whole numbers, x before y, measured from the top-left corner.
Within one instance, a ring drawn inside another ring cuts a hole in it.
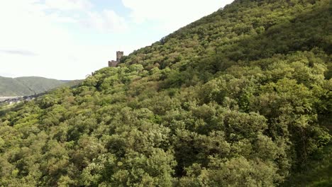
[[[0,2],[1,75],[82,79],[106,65],[104,53],[93,52],[98,47],[77,46],[68,30],[55,23],[60,16],[48,15],[47,7],[36,3]]]

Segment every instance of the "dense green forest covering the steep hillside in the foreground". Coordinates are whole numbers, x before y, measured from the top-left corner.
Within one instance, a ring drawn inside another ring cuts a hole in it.
[[[331,12],[236,0],[0,109],[0,186],[331,186]]]

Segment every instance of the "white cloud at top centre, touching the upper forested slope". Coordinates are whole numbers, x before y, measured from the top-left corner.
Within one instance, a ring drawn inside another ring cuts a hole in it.
[[[122,0],[130,8],[136,23],[157,21],[162,28],[171,31],[209,15],[233,0]],[[216,5],[216,6],[211,6]]]

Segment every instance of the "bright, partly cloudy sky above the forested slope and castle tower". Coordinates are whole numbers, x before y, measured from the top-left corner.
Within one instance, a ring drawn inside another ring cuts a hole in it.
[[[233,0],[0,0],[0,76],[84,79]]]

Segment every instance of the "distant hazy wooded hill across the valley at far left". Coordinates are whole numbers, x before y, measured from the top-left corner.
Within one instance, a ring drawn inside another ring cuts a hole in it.
[[[65,84],[65,81],[43,77],[0,77],[0,96],[31,96]]]

